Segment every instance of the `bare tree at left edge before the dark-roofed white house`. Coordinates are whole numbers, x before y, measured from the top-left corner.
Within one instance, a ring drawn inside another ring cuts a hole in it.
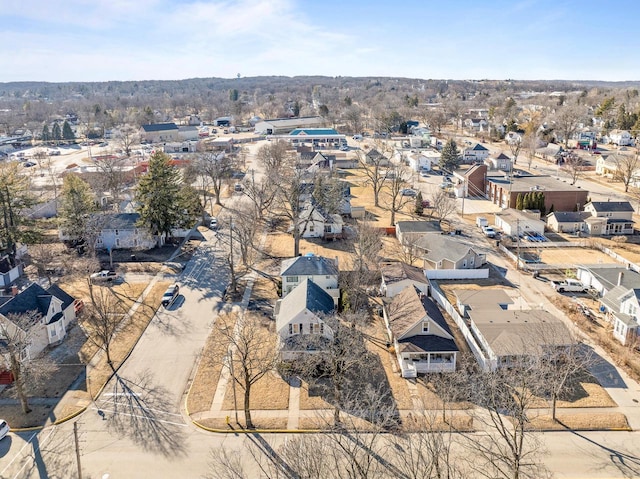
[[[9,313],[6,318],[0,315],[0,358],[4,356],[13,375],[13,390],[24,414],[31,412],[29,385],[42,377],[46,366],[28,356],[40,319],[37,311]]]

